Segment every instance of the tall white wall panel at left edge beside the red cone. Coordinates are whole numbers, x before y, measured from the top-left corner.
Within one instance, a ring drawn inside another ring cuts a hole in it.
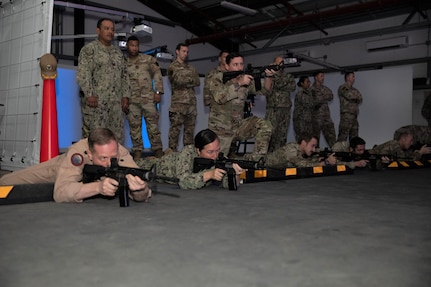
[[[0,8],[2,169],[39,162],[43,88],[39,58],[50,51],[53,3],[15,0]]]

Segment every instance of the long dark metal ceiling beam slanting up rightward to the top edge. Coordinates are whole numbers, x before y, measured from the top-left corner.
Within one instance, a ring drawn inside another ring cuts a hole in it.
[[[263,24],[263,25],[258,25],[258,26],[253,26],[253,27],[248,27],[248,28],[238,29],[233,31],[226,31],[222,33],[211,34],[211,35],[207,35],[199,38],[187,39],[186,43],[190,45],[206,43],[206,42],[220,40],[223,38],[233,37],[237,35],[265,31],[265,30],[274,29],[277,27],[284,27],[286,25],[312,22],[322,18],[324,19],[328,17],[343,15],[346,13],[364,12],[370,9],[383,8],[387,5],[403,4],[403,3],[406,3],[406,0],[376,0],[376,1],[360,3],[360,4],[355,4],[355,5],[346,6],[346,7],[337,7],[333,10],[327,10],[327,11],[323,11],[315,14],[297,16],[294,18],[285,19],[278,22],[273,22],[273,23],[268,23],[268,24]]]

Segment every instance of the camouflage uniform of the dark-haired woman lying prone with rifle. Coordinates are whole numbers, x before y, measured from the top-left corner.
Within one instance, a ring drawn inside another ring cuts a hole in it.
[[[220,184],[214,180],[204,182],[203,174],[207,170],[193,173],[195,157],[198,157],[196,148],[194,145],[187,145],[180,152],[168,153],[161,158],[138,159],[136,163],[140,168],[147,170],[151,169],[155,164],[159,176],[178,178],[178,185],[181,189],[200,189],[211,184]],[[226,189],[228,188],[227,180],[227,176],[222,179],[222,185]],[[159,180],[159,182],[175,184],[166,180]]]

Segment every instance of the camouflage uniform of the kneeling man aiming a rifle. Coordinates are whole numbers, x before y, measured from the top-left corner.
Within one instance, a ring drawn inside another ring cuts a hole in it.
[[[253,155],[259,160],[268,152],[272,125],[270,122],[250,116],[244,119],[244,103],[248,94],[256,94],[254,81],[248,87],[238,86],[232,80],[223,84],[223,73],[214,74],[209,89],[213,93],[208,128],[220,139],[220,149],[229,154],[231,143],[255,138]],[[259,156],[260,155],[260,156]],[[253,156],[250,158],[253,159]]]

